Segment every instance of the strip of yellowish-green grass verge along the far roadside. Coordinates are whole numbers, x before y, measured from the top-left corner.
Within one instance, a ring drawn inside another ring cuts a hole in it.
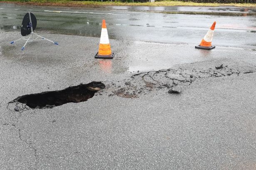
[[[39,6],[64,6],[64,7],[101,7],[107,5],[116,6],[204,6],[204,7],[219,7],[219,6],[234,6],[234,7],[256,7],[256,4],[251,3],[196,3],[182,2],[174,0],[164,0],[157,2],[98,2],[98,1],[79,1],[79,0],[1,0],[2,3],[16,3],[19,5],[39,5]]]

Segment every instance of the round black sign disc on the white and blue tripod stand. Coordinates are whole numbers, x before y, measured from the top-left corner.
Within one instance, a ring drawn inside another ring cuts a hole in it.
[[[33,31],[37,27],[37,19],[34,14],[30,12],[30,17],[31,17],[31,22],[32,22],[32,28]],[[22,20],[21,28],[20,28],[20,33],[22,36],[26,36],[31,33],[31,27],[30,27],[30,20],[29,20],[29,14],[26,13]]]

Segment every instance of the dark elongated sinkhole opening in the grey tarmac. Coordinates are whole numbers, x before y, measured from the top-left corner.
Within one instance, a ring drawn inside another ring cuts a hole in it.
[[[92,98],[94,94],[104,89],[101,82],[92,81],[89,84],[70,86],[60,91],[45,91],[38,94],[19,96],[9,103],[25,103],[30,108],[52,108],[66,103],[79,103]]]

